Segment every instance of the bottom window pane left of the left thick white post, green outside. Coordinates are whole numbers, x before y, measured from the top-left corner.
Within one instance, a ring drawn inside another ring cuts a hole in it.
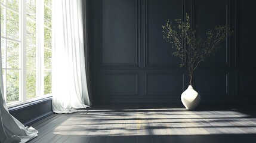
[[[7,103],[19,101],[19,70],[7,70]]]

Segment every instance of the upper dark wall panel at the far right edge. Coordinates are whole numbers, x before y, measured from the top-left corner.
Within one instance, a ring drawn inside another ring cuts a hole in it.
[[[236,66],[256,67],[256,1],[246,0],[236,2]]]

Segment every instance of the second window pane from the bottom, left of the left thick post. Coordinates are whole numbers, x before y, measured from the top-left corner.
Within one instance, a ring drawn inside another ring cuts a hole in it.
[[[20,60],[20,45],[17,42],[7,41],[7,68],[18,69]]]

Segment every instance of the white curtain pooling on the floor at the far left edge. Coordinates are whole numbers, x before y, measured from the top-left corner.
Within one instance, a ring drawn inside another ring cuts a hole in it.
[[[1,55],[1,41],[0,41]],[[0,58],[0,142],[27,142],[38,136],[38,131],[32,127],[24,127],[11,116],[4,100],[4,85],[2,79],[2,58]]]

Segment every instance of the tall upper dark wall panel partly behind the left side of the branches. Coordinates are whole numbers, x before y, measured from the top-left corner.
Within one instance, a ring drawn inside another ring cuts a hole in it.
[[[180,58],[170,54],[171,45],[162,38],[166,20],[183,17],[183,1],[146,1],[146,66],[179,66]]]

